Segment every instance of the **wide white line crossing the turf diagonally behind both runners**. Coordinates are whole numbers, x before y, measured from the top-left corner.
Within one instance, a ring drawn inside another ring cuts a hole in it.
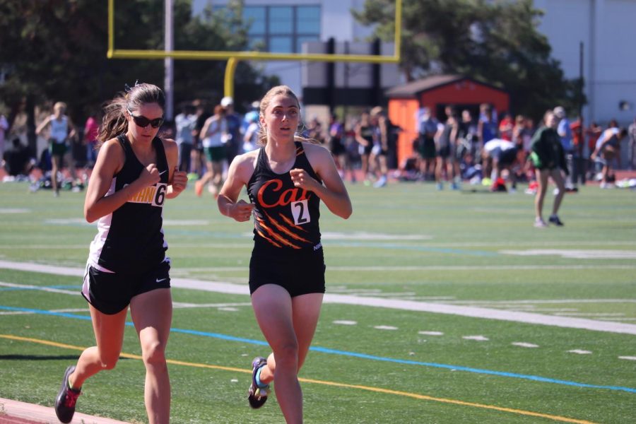
[[[21,271],[52,273],[65,276],[83,276],[84,270],[64,266],[52,266],[41,264],[28,264],[22,262],[0,261],[2,269],[17,269]],[[232,284],[215,281],[199,281],[187,278],[172,278],[172,287],[189,288],[194,290],[206,290],[216,293],[234,295],[249,295],[247,284]],[[383,299],[373,297],[361,297],[354,295],[324,295],[325,303],[340,305],[358,305],[369,307],[385,307],[396,310],[408,310],[416,312],[430,312],[434,314],[452,314],[461,317],[473,317],[483,319],[497,319],[500,321],[523,322],[526,324],[540,324],[546,326],[558,326],[571,329],[586,329],[591,331],[605,331],[608,333],[636,335],[636,324],[624,322],[606,322],[594,319],[556,317],[554,315],[535,314],[531,312],[515,312],[507,310],[494,310],[484,307],[448,305],[442,303],[414,302],[412,300]]]

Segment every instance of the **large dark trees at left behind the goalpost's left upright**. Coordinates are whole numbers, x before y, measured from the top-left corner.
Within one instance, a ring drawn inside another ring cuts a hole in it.
[[[247,31],[241,1],[230,13],[192,16],[192,0],[175,0],[175,48],[241,50]],[[233,12],[233,13],[232,13]],[[115,2],[114,44],[120,49],[163,49],[163,1]],[[230,18],[228,18],[228,16]],[[0,103],[9,119],[28,114],[35,148],[36,105],[65,101],[76,124],[88,110],[139,81],[163,86],[163,59],[107,59],[107,2],[93,0],[0,0]],[[175,61],[175,102],[223,96],[225,61]],[[254,82],[256,81],[256,82]],[[236,101],[252,102],[270,81],[249,63],[237,66]],[[258,95],[258,94],[257,94]],[[242,98],[241,96],[245,96]]]

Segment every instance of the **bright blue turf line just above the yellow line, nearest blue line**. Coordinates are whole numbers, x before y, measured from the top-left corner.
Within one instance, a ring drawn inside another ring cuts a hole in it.
[[[74,318],[74,319],[83,319],[85,321],[90,321],[90,317],[86,315],[78,315],[78,314],[69,314],[66,312],[51,312],[47,310],[36,310],[24,307],[11,307],[11,306],[2,306],[0,305],[0,310],[9,310],[15,312],[30,312],[33,314],[42,314],[42,315],[53,315],[56,317],[64,317],[64,318]],[[126,322],[127,326],[134,326],[132,322]],[[227,334],[220,333],[209,333],[207,331],[196,331],[196,330],[187,330],[187,329],[170,329],[172,333],[181,333],[181,334],[192,334],[194,336],[204,336],[211,338],[220,338],[222,340],[228,341],[240,341],[242,343],[251,343],[259,346],[269,346],[267,342],[254,340],[252,338],[242,338],[235,336],[228,336]],[[348,356],[351,358],[361,358],[367,360],[378,360],[382,362],[388,363],[397,363],[404,365],[418,365],[421,367],[434,367],[434,368],[442,368],[444,370],[454,370],[454,371],[464,371],[464,372],[473,372],[474,374],[484,374],[484,375],[496,375],[497,377],[509,377],[509,378],[517,378],[517,379],[525,379],[534,382],[542,382],[542,383],[551,383],[551,384],[563,384],[565,386],[572,387],[582,387],[585,389],[606,389],[606,390],[614,390],[614,391],[627,391],[628,393],[636,393],[636,389],[632,387],[622,387],[622,386],[601,386],[598,384],[587,384],[587,383],[579,383],[579,382],[570,382],[568,380],[562,379],[552,379],[548,377],[540,377],[538,375],[526,375],[526,374],[515,374],[514,372],[502,372],[502,371],[493,371],[493,370],[482,370],[480,368],[471,368],[471,367],[461,367],[457,365],[448,365],[448,364],[438,364],[438,363],[425,363],[416,360],[404,360],[404,359],[395,359],[395,358],[385,358],[383,356],[375,356],[375,355],[367,355],[366,353],[357,353],[357,352],[348,352],[348,351],[338,351],[337,349],[329,349],[329,348],[321,348],[319,346],[310,347],[310,351],[320,352],[320,353],[329,353],[330,355],[342,355]]]

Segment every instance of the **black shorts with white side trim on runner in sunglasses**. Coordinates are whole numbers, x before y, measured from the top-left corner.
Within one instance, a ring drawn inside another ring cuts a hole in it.
[[[82,295],[103,314],[121,312],[132,298],[158,288],[170,288],[170,259],[146,273],[112,273],[88,265],[82,285]]]

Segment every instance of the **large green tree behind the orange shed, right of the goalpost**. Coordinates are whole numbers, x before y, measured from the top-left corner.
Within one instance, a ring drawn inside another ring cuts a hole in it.
[[[375,36],[391,40],[395,2],[366,0],[353,11]],[[532,0],[404,0],[401,69],[406,79],[460,73],[505,88],[512,112],[535,119],[555,105],[578,110],[578,80],[567,80],[538,33]]]

